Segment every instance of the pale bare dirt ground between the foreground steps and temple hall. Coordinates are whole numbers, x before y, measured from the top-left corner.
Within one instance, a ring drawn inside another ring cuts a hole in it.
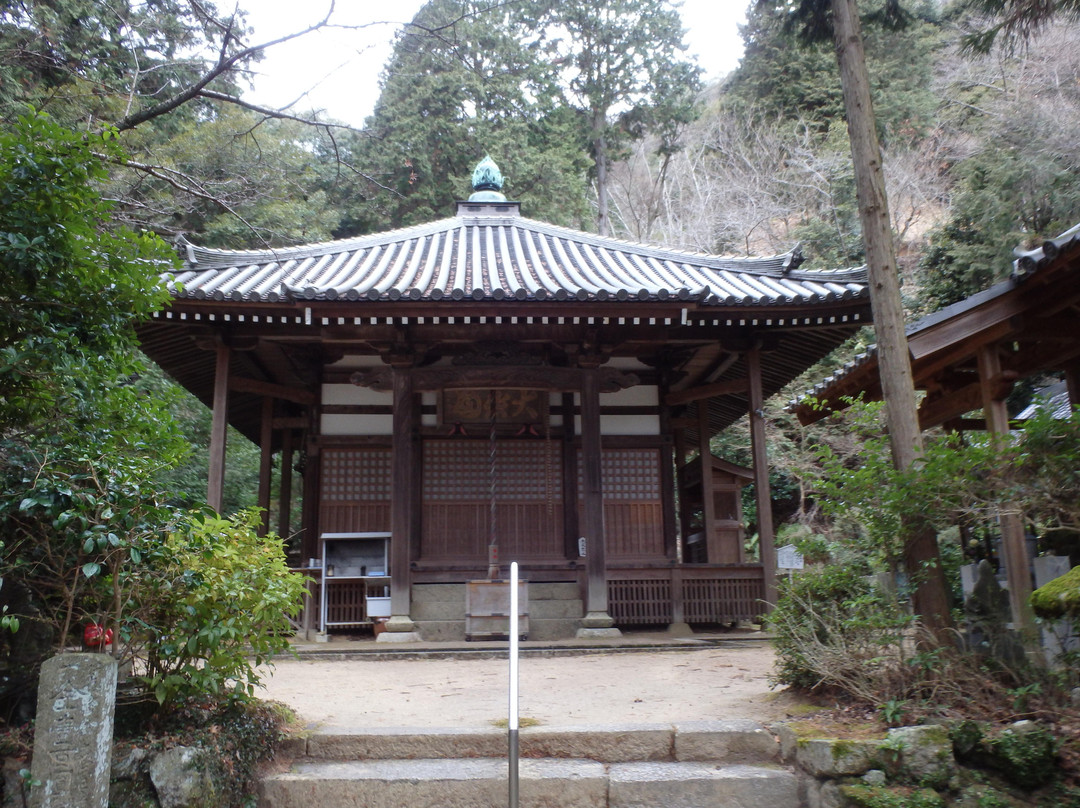
[[[769,687],[767,644],[693,650],[523,657],[522,721],[548,726],[667,724],[789,715],[795,702]],[[282,701],[322,731],[491,726],[507,718],[509,660],[281,660],[264,698]]]

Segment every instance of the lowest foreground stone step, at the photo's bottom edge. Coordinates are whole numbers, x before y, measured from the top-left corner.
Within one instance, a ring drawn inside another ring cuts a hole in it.
[[[522,759],[527,808],[798,808],[795,775],[779,767],[712,763],[602,764]],[[484,808],[507,805],[504,758],[301,763],[259,784],[260,808]]]

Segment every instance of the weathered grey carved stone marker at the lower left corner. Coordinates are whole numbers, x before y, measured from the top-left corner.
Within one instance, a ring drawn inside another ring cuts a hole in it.
[[[41,665],[30,808],[106,808],[117,662],[62,654]]]

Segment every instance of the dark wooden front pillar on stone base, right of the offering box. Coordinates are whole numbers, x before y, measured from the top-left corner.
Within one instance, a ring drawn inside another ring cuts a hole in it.
[[[583,630],[611,631],[608,615],[607,554],[604,537],[604,480],[602,472],[599,376],[595,367],[581,375],[581,454],[584,513],[582,534],[586,541],[585,618]]]

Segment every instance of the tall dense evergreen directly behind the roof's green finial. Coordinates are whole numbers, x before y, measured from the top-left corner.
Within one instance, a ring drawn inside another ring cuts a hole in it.
[[[577,225],[588,159],[535,18],[491,0],[431,0],[397,37],[382,93],[355,142],[364,204],[354,230],[446,216],[490,154],[530,215]],[[339,233],[346,234],[346,233]]]

